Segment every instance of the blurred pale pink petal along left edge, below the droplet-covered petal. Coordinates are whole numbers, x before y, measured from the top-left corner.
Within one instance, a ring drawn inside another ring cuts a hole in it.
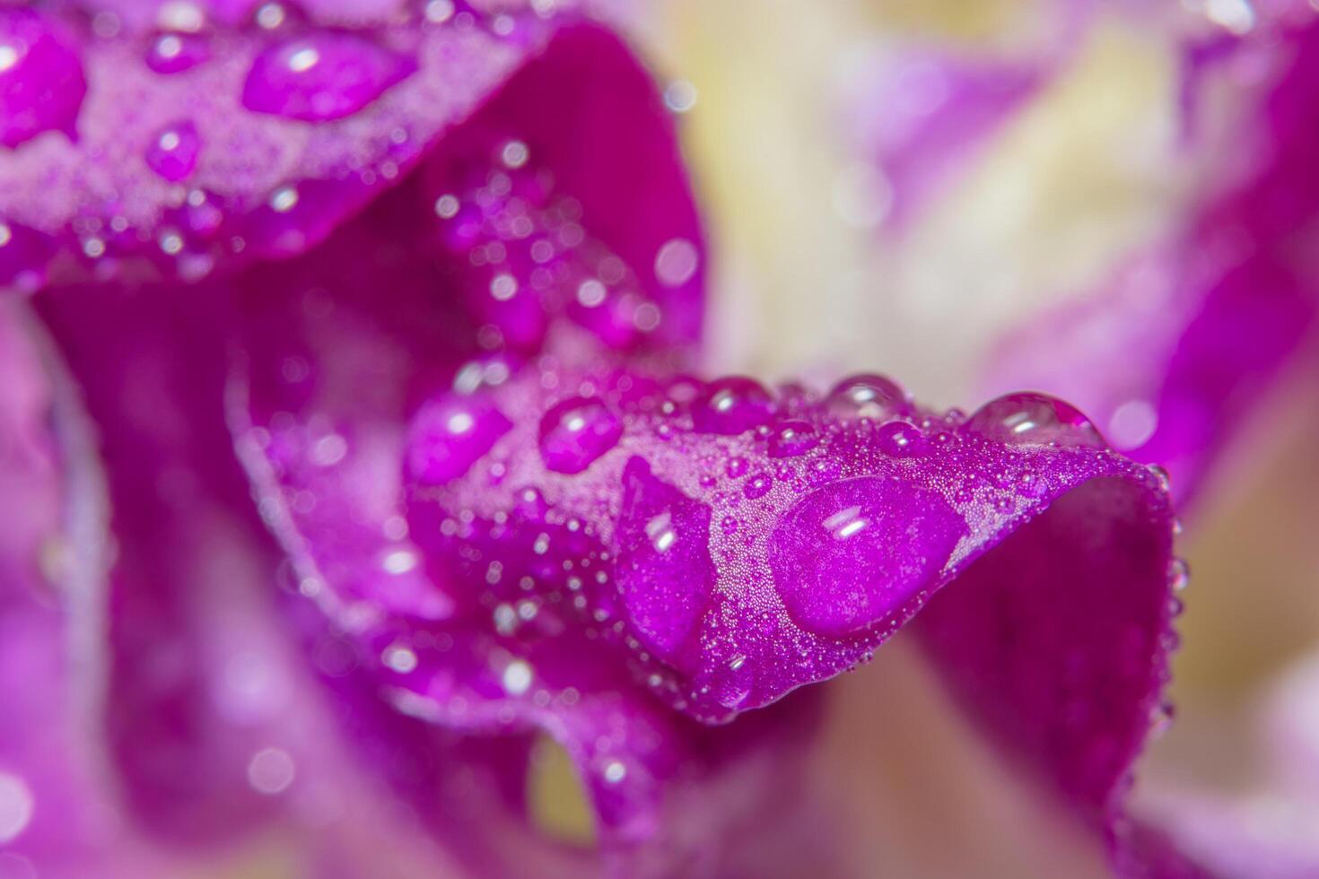
[[[0,866],[24,875],[50,865],[71,876],[96,866],[121,875],[96,842],[113,834],[100,742],[88,721],[90,673],[104,548],[95,464],[67,393],[25,339],[13,303],[0,308]],[[51,428],[54,420],[61,435]],[[21,511],[21,514],[15,514]]]

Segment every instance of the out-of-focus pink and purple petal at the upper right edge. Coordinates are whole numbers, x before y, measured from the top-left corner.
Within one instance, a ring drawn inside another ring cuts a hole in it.
[[[1115,447],[1167,467],[1179,497],[1291,362],[1316,308],[1319,29],[1252,40],[1217,62],[1256,101],[1250,140],[1215,165],[1217,192],[1093,295],[1008,339],[989,378],[1076,401]]]

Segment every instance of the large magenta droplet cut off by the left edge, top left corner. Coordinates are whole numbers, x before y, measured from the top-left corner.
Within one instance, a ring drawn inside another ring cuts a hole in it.
[[[77,137],[87,94],[73,37],[30,9],[0,9],[0,144],[8,148],[49,130]]]

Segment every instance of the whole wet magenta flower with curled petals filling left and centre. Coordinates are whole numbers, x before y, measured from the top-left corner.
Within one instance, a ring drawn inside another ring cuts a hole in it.
[[[814,684],[910,626],[1120,875],[1202,875],[1125,808],[1166,452],[1035,391],[708,374],[674,123],[595,11],[5,8],[0,101],[0,867],[873,871]],[[546,741],[594,847],[549,832]]]

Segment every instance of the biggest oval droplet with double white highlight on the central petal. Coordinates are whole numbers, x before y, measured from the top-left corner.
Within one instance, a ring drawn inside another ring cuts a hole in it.
[[[966,530],[940,494],[863,476],[816,489],[789,510],[770,538],[769,564],[793,618],[840,637],[931,585]]]

